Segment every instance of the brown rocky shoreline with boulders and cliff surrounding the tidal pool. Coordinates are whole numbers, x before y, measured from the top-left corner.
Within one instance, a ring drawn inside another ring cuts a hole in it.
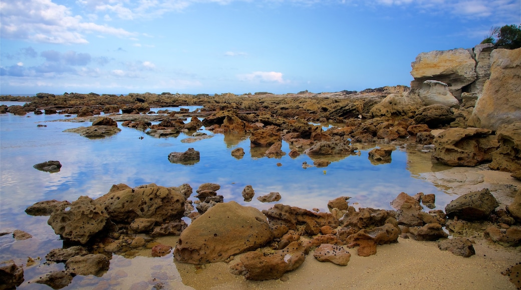
[[[356,249],[351,250],[356,256],[369,257],[399,240],[428,241],[440,252],[461,257],[478,255],[474,245],[489,243],[521,262],[521,48],[496,49],[484,44],[426,52],[412,63],[411,74],[411,87],[359,92],[2,96],[2,100],[28,103],[1,106],[0,113],[59,113],[64,114],[64,121],[92,122],[88,127],[68,129],[86,138],[118,134],[116,121],[151,138],[181,132],[191,138],[211,137],[198,132],[204,126],[214,134],[249,136],[259,157],[306,154],[314,164],[303,166],[317,167],[327,167],[328,157],[357,154],[367,143],[379,146],[369,152],[374,164],[391,162],[396,147],[431,152],[432,162],[454,170],[446,170],[443,176],[427,174],[426,178],[439,184],[452,182],[447,187],[459,195],[444,211],[425,209],[433,208],[436,196],[403,192],[396,192],[390,201],[393,210],[356,209],[349,196],[339,196],[328,202],[329,212],[285,204],[261,211],[225,201],[215,183],[202,184],[196,194],[187,183],[134,188],[114,184],[97,199],[81,196],[72,202],[42,201],[27,208],[29,215],[49,216],[48,225],[67,241],[67,247],[45,257],[49,262],[65,263],[65,270],[51,271],[31,283],[63,288],[76,275],[103,275],[112,254],[132,257],[139,251],[173,257],[176,263],[183,263],[180,267],[188,264],[204,269],[224,263],[229,273],[244,281],[284,282],[287,273],[309,259],[344,267],[352,264],[350,249]],[[150,111],[186,105],[202,107]],[[77,116],[67,116],[72,114]],[[191,122],[183,122],[189,117]],[[316,124],[333,126],[324,130]],[[281,150],[282,141],[289,143],[290,152]],[[199,162],[198,153],[190,148],[172,152],[168,159],[193,164]],[[232,154],[241,158],[244,152]],[[52,170],[59,170],[56,167]],[[476,187],[469,187],[472,182],[466,181],[479,179],[480,173],[472,175],[477,169],[508,173],[509,177],[503,183],[478,180]],[[277,194],[258,198],[275,202]],[[245,201],[254,196],[251,186],[244,188]],[[190,225],[182,218],[189,218]],[[14,239],[30,239],[25,234],[13,233]],[[176,236],[176,240],[173,244],[160,242],[165,236]],[[6,288],[22,283],[23,267],[13,261],[0,266]],[[519,288],[514,273],[521,263],[511,266],[504,271],[510,271],[511,286]],[[160,283],[153,286],[165,287]]]

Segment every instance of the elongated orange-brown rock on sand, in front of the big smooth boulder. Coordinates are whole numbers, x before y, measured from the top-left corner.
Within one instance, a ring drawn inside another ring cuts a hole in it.
[[[272,253],[248,252],[241,256],[240,263],[233,265],[232,272],[243,274],[248,280],[279,279],[284,273],[302,265],[304,259],[302,244],[292,242],[286,248]]]

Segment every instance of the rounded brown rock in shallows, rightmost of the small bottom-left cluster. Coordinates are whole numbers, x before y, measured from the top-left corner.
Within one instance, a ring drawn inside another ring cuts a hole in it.
[[[95,275],[101,277],[108,270],[110,261],[103,254],[75,256],[67,260],[65,269],[76,275]]]

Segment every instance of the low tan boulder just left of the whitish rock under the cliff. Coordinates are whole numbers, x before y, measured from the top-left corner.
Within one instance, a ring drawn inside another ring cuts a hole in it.
[[[411,118],[423,106],[423,101],[415,93],[390,94],[371,108],[369,112],[373,117],[403,116]]]

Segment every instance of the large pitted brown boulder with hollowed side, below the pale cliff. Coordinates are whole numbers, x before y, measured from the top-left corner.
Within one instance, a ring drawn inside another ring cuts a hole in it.
[[[434,139],[436,149],[432,157],[450,166],[476,166],[491,161],[498,143],[490,134],[488,129],[446,129]]]

